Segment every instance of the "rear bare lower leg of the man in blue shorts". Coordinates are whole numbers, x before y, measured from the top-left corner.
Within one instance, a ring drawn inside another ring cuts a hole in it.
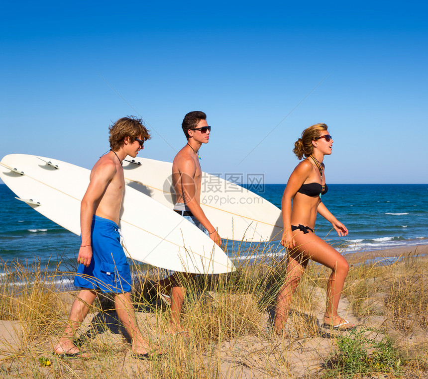
[[[76,331],[80,323],[85,319],[89,312],[89,307],[95,300],[97,293],[93,289],[82,289],[71,307],[69,323],[64,328],[62,337],[54,348],[57,354],[78,354],[79,348],[73,343]]]

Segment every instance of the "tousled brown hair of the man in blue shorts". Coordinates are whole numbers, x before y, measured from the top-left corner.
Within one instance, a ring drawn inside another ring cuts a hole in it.
[[[134,142],[138,136],[141,136],[143,141],[150,139],[149,131],[143,125],[142,118],[128,116],[119,118],[113,125],[108,128],[110,137],[110,148],[114,151],[119,150],[125,143],[125,137],[130,138],[130,142]]]

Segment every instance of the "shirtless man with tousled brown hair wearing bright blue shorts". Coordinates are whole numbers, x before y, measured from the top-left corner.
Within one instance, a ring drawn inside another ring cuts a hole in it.
[[[123,117],[109,127],[110,151],[103,155],[91,171],[90,183],[83,196],[80,211],[81,238],[74,284],[81,287],[74,301],[69,324],[54,348],[60,356],[81,356],[73,343],[79,324],[88,314],[97,291],[114,293],[114,305],[120,322],[132,339],[137,358],[149,357],[149,343],[138,329],[131,304],[131,275],[120,244],[119,211],[125,182],[122,161],[136,157],[150,134],[135,117]]]

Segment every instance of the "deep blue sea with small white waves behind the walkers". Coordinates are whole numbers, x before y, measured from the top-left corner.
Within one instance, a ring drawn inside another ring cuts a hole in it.
[[[284,184],[251,188],[281,207]],[[342,252],[378,250],[428,244],[428,185],[328,185],[322,196],[327,208],[349,230],[339,238],[331,224],[317,218],[316,232]],[[40,215],[0,185],[0,257],[40,259],[43,267],[70,269],[80,245],[79,236]],[[281,247],[278,243],[274,248]],[[228,251],[233,255],[232,249]]]

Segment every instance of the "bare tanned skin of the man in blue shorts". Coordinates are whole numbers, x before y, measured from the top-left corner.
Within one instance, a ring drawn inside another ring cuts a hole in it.
[[[138,139],[141,139],[141,136]],[[83,264],[86,267],[89,267],[91,264],[91,225],[93,215],[96,214],[118,224],[119,211],[125,188],[123,168],[120,165],[119,159],[122,161],[127,155],[135,158],[140,149],[138,141],[131,142],[129,137],[125,137],[122,147],[116,151],[117,157],[110,151],[101,157],[93,167],[90,175],[90,184],[81,203],[80,223],[82,246],[79,249],[77,257],[79,264]],[[80,323],[88,314],[89,306],[94,302],[96,296],[97,293],[93,289],[83,289],[79,292],[70,311],[70,322],[54,348],[55,353],[79,353],[79,348],[73,343],[73,338]],[[114,304],[120,322],[131,337],[132,351],[137,354],[147,353],[149,343],[138,329],[130,294],[115,294]]]

